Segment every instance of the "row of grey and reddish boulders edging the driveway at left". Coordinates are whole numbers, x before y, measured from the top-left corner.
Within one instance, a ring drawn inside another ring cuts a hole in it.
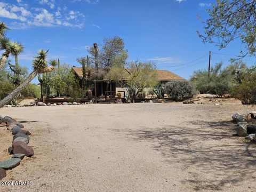
[[[31,157],[34,155],[33,148],[28,146],[28,135],[31,135],[31,133],[23,130],[23,124],[17,122],[12,117],[0,116],[0,124],[4,123],[6,124],[7,130],[11,131],[14,136],[12,146],[8,148],[9,154],[12,154],[12,158],[0,162],[0,180],[6,177],[6,170],[10,170],[18,166],[25,156]]]

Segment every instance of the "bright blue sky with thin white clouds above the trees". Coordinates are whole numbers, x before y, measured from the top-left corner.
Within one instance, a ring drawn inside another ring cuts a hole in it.
[[[0,20],[11,28],[7,37],[21,42],[25,52],[22,66],[31,71],[31,61],[39,49],[49,49],[49,59],[79,66],[76,58],[86,56],[86,48],[102,44],[103,37],[120,36],[129,51],[129,61],[151,61],[158,69],[189,78],[196,69],[238,55],[239,42],[219,50],[203,44],[202,31],[213,0],[0,0]],[[201,17],[201,19],[199,19]],[[245,58],[253,65],[254,58]],[[36,83],[37,80],[34,79]]]

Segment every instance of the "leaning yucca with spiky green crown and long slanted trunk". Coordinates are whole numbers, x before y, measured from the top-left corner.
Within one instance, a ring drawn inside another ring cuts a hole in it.
[[[48,67],[46,55],[48,51],[39,50],[38,56],[33,61],[33,71],[29,74],[27,79],[20,84],[14,91],[12,91],[7,97],[0,101],[0,108],[9,103],[12,98],[17,97],[20,92],[38,75],[41,73],[48,73],[54,69],[54,66]],[[54,63],[53,63],[54,64]]]

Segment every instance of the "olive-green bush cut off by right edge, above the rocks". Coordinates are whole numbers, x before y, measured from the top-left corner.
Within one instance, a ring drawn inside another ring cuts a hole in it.
[[[256,104],[256,67],[248,68],[240,74],[239,83],[231,93],[243,104]]]

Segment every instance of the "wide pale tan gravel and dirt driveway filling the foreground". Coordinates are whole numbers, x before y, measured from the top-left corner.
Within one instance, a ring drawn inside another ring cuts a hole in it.
[[[3,108],[30,131],[32,158],[0,191],[255,191],[256,145],[236,137],[242,105],[98,104]],[[12,135],[0,127],[1,161]]]

